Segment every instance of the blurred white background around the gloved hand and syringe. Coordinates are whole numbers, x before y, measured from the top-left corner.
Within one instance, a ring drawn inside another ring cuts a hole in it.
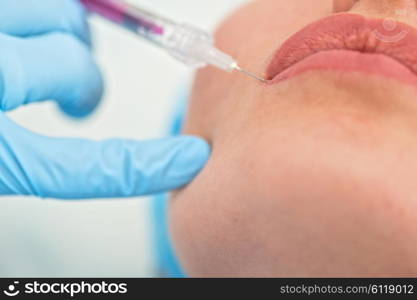
[[[63,0],[65,1],[65,0]],[[132,0],[176,20],[213,29],[245,0]],[[144,139],[161,136],[175,97],[191,72],[107,22],[92,18],[106,96],[83,122],[53,103],[20,108],[10,116],[50,136]],[[0,200],[1,277],[153,276],[149,199],[61,202],[26,197]]]

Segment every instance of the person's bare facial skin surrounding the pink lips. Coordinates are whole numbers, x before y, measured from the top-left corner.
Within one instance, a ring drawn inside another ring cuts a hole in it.
[[[262,74],[288,36],[341,11],[417,25],[414,0],[258,0],[217,41]],[[361,72],[315,70],[269,86],[199,72],[185,132],[208,139],[213,155],[170,210],[186,272],[416,276],[416,96]]]

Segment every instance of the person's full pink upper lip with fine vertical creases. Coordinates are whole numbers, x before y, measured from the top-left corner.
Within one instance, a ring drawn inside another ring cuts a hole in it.
[[[315,53],[350,50],[384,54],[417,75],[417,30],[400,22],[338,14],[308,25],[290,37],[273,55],[266,77],[271,80]]]

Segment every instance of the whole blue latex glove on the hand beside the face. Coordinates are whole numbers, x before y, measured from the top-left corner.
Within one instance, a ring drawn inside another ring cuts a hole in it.
[[[103,90],[77,0],[0,1],[0,195],[129,197],[187,184],[210,155],[194,137],[133,141],[56,139],[8,119],[20,105],[55,100],[82,117]]]

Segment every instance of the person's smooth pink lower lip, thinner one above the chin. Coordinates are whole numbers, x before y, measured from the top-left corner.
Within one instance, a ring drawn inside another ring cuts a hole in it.
[[[395,59],[384,54],[349,50],[330,50],[313,54],[278,74],[269,83],[277,84],[314,70],[361,72],[417,86],[416,74]]]

